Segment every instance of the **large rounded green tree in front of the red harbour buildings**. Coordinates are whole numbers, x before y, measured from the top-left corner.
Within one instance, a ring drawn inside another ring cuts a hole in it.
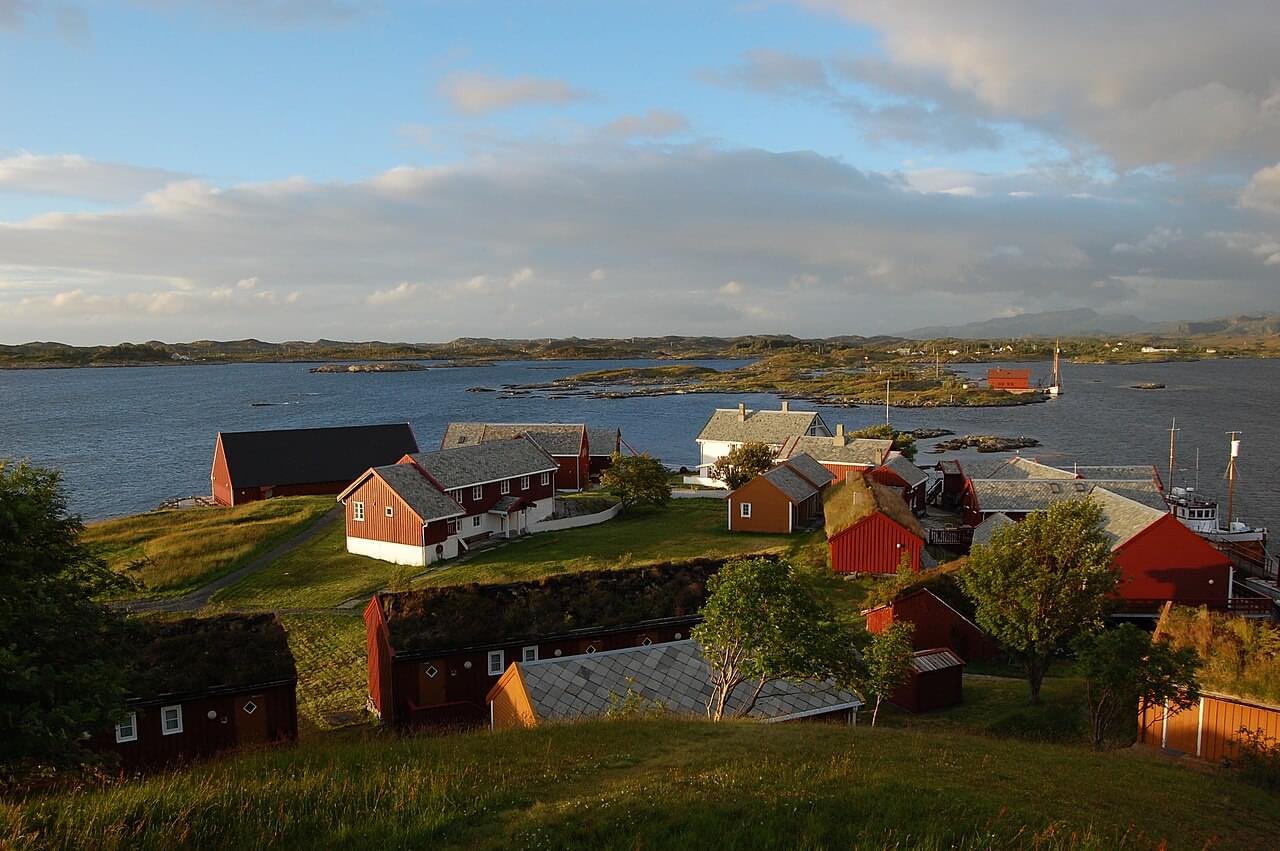
[[[974,546],[956,573],[978,626],[1023,663],[1030,700],[1053,656],[1102,626],[1116,586],[1102,511],[1088,499],[1053,503]]]

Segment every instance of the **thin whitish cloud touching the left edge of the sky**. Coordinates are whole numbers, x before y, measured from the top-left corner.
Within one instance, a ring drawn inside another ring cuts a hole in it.
[[[164,169],[101,163],[67,154],[18,154],[0,160],[0,193],[129,202],[184,178]]]

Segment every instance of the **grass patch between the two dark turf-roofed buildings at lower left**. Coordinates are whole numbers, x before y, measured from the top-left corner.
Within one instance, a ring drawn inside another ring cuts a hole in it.
[[[358,613],[287,614],[284,628],[298,665],[298,733],[306,738],[367,720],[365,622]]]

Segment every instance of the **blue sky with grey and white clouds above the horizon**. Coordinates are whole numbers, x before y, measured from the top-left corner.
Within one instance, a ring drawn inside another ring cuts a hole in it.
[[[0,0],[0,343],[1280,311],[1274,0]]]

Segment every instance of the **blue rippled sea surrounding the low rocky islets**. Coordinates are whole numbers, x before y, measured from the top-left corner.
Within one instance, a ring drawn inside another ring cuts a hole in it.
[[[302,363],[82,370],[0,370],[0,458],[64,471],[86,518],[154,508],[169,497],[207,494],[219,430],[411,422],[424,448],[449,420],[586,421],[616,425],[636,449],[692,463],[694,438],[712,408],[777,407],[768,394],[689,394],[636,399],[500,398],[470,386],[548,381],[590,369],[650,361],[506,362],[422,372],[312,375]],[[745,361],[705,361],[732,369]],[[1046,363],[1030,365],[1047,378]],[[961,371],[984,375],[986,366]],[[1132,385],[1161,383],[1164,390]],[[1165,476],[1169,425],[1178,417],[1180,484],[1225,494],[1226,431],[1243,431],[1236,514],[1280,527],[1280,361],[1203,361],[1139,366],[1064,366],[1065,394],[1018,408],[893,410],[900,427],[1028,435],[1048,463],[1153,463]],[[253,402],[275,404],[255,407]],[[805,407],[797,403],[796,407]],[[822,408],[850,429],[883,422],[882,407]],[[928,448],[932,441],[924,441]],[[938,457],[922,453],[919,462]]]

